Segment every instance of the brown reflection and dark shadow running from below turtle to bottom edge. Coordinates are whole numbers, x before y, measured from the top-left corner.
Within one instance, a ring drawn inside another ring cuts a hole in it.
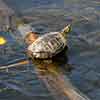
[[[71,84],[66,74],[71,71],[71,66],[67,64],[66,52],[62,53],[52,60],[33,60],[38,78],[45,83],[55,100],[89,100]]]

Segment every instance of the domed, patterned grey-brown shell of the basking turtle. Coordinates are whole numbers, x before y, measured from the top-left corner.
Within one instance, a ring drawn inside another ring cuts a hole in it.
[[[52,58],[66,46],[66,39],[59,32],[50,32],[39,37],[28,50],[32,51],[34,58]]]

